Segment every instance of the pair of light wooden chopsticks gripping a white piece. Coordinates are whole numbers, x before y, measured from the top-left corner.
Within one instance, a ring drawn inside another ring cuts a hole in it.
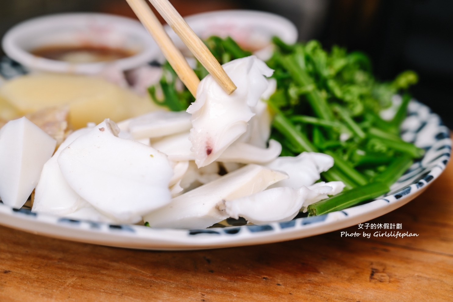
[[[179,79],[186,85],[193,96],[197,95],[197,87],[200,83],[195,72],[188,65],[183,54],[173,44],[164,27],[160,24],[156,15],[153,13],[145,0],[126,0],[140,22],[153,36],[157,45],[164,53],[165,58],[169,61]],[[183,43],[189,48],[193,55],[200,61],[206,70],[214,77],[217,83],[231,94],[236,90],[236,85],[231,81],[217,59],[212,55],[209,49],[204,45],[202,40],[188,26],[183,17],[171,5],[169,0],[149,0],[155,9],[162,15],[165,21],[173,28],[174,32],[181,38]]]

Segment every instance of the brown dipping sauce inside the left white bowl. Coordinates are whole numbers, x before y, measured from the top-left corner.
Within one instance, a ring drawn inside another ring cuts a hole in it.
[[[130,50],[95,45],[54,45],[34,49],[31,53],[37,57],[71,63],[114,61],[135,55]]]

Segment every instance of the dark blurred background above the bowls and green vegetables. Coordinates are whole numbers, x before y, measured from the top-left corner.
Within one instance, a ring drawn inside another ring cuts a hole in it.
[[[316,38],[371,56],[381,80],[400,71],[419,74],[416,99],[453,127],[453,1],[448,0],[171,0],[184,16],[216,9],[258,9],[281,14]],[[14,0],[0,3],[0,37],[34,16],[97,11],[134,17],[125,0]],[[0,55],[2,52],[0,51]]]

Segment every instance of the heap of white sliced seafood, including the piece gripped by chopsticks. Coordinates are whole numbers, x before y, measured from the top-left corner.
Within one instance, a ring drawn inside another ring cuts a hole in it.
[[[331,156],[278,157],[262,100],[275,90],[266,78],[272,70],[256,57],[224,68],[238,86],[231,95],[207,76],[188,113],[155,111],[119,127],[106,119],[72,133],[39,168],[32,211],[205,228],[228,217],[287,221],[339,193],[341,182],[315,183],[332,167]]]

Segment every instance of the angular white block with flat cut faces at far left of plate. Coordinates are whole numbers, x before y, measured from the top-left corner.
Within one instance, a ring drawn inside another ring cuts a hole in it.
[[[0,197],[20,208],[38,183],[44,163],[57,142],[27,118],[5,124],[0,130]]]

